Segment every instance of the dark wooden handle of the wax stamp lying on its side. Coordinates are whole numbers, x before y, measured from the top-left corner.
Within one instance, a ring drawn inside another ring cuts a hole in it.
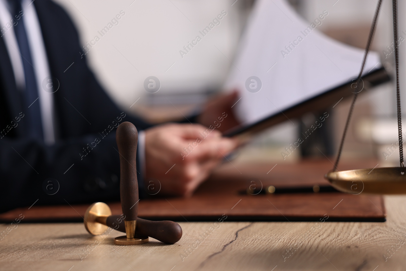
[[[121,215],[110,215],[107,217],[106,225],[120,232],[125,232]],[[182,228],[173,221],[150,221],[138,218],[135,234],[149,236],[163,243],[174,244],[182,237]]]

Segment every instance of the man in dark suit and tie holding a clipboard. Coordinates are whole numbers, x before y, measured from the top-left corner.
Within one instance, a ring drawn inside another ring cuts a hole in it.
[[[143,180],[153,178],[161,194],[190,195],[236,147],[219,132],[237,124],[231,113],[235,93],[213,100],[194,117],[207,127],[221,118],[221,127],[151,127],[108,97],[59,5],[0,0],[0,23],[0,211],[35,202],[119,199],[115,128],[123,121],[141,131],[141,193]]]

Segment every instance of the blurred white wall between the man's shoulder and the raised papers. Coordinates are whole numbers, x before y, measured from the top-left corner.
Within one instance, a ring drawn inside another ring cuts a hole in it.
[[[147,95],[148,76],[161,81],[160,93],[221,87],[243,27],[243,1],[133,1],[57,0],[73,17],[83,46],[100,37],[86,56],[116,102],[127,107]],[[101,37],[98,31],[120,11],[119,24]],[[220,24],[182,58],[179,51],[222,11]]]

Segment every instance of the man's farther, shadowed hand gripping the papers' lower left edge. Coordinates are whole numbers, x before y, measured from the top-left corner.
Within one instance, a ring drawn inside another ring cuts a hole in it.
[[[238,101],[238,99],[238,91],[236,90],[231,93],[217,95],[205,104],[197,121],[207,127],[218,126],[216,130],[219,130],[220,132],[225,132],[234,128],[240,123],[235,118],[231,107]],[[220,119],[222,120],[221,123],[219,122]]]

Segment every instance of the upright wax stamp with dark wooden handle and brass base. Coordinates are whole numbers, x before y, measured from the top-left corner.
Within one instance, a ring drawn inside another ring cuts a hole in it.
[[[116,245],[140,245],[148,242],[148,236],[136,236],[138,215],[138,181],[136,154],[138,132],[131,122],[123,122],[116,132],[120,154],[120,198],[121,209],[125,216],[125,236],[114,238]]]

